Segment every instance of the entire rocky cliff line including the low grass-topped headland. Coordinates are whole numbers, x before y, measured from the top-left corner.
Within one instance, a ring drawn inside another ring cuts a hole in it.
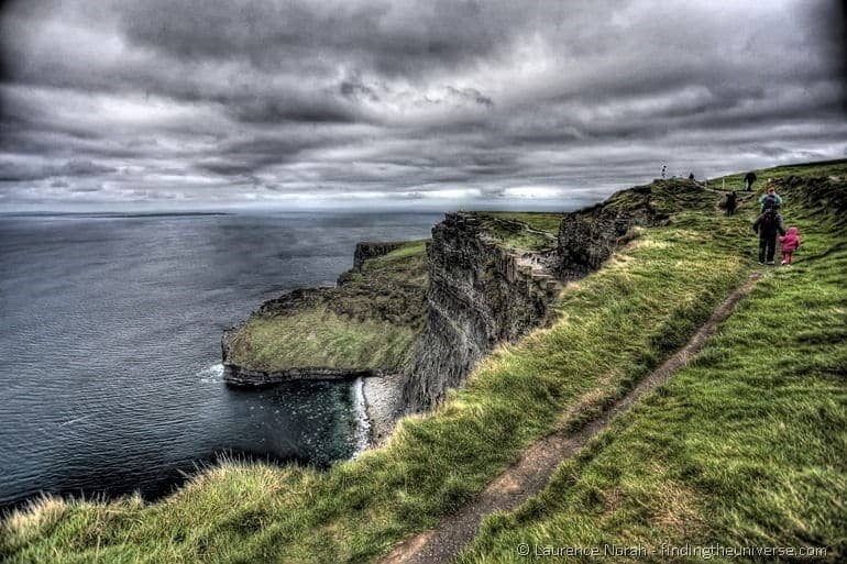
[[[544,323],[562,284],[600,268],[635,228],[713,200],[693,183],[657,180],[570,213],[447,213],[426,247],[360,243],[337,288],[295,290],[224,334],[227,381],[399,375],[402,410],[425,410],[499,343]],[[286,327],[294,329],[278,331]],[[359,336],[341,347],[337,333],[351,331]],[[309,339],[305,354],[279,350]],[[340,349],[346,353],[333,357]]]

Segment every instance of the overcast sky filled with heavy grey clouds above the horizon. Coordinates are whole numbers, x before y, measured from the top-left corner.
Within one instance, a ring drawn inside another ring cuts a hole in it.
[[[0,211],[573,209],[844,158],[844,10],[6,2]]]

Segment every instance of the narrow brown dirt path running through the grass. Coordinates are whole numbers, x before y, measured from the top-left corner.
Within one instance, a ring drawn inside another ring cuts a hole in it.
[[[381,563],[450,562],[476,537],[483,517],[494,511],[510,511],[541,491],[559,464],[573,456],[576,451],[604,431],[615,417],[628,410],[646,394],[668,381],[676,371],[685,366],[703,349],[706,340],[715,333],[717,325],[726,320],[735,306],[750,292],[759,277],[758,273],[750,276],[712,312],[708,320],[694,333],[685,346],[597,418],[579,431],[572,433],[556,431],[531,444],[515,464],[488,484],[473,501],[458,513],[441,521],[437,529],[424,531],[398,544]],[[608,383],[612,375],[601,379],[598,387],[581,398],[578,405],[563,416],[562,421],[571,419],[596,403],[603,396],[603,383]]]

